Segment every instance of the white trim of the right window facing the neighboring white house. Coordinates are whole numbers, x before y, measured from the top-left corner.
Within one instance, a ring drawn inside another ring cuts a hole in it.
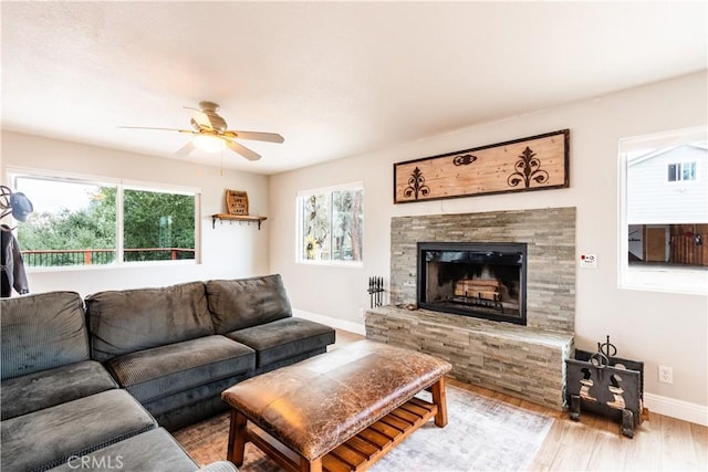
[[[706,125],[676,129],[638,137],[622,138],[617,145],[617,285],[622,290],[649,292],[708,294],[708,270],[662,266],[659,269],[629,268],[627,258],[629,250],[627,224],[627,154],[634,149],[652,149],[685,144],[691,140],[706,139]],[[687,159],[691,161],[690,159]],[[678,162],[678,161],[677,161]],[[698,166],[700,167],[700,166]],[[699,168],[696,169],[698,182]],[[668,181],[669,185],[687,185],[693,180]]]

